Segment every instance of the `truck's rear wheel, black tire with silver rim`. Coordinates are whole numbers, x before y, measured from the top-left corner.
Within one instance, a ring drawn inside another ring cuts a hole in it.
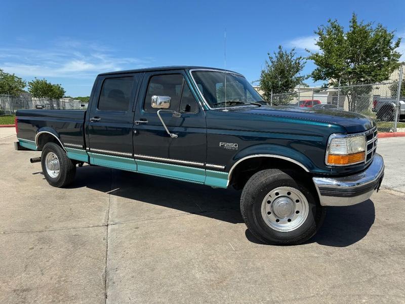
[[[46,180],[54,187],[69,185],[76,174],[76,165],[67,157],[65,150],[54,142],[48,142],[42,149],[41,165]]]

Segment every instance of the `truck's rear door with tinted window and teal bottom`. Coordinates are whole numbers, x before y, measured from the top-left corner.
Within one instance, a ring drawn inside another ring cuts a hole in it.
[[[140,73],[99,78],[88,113],[90,163],[136,171],[133,159],[133,104]]]

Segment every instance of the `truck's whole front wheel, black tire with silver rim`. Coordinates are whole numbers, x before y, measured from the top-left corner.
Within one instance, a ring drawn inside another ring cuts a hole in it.
[[[240,211],[250,232],[272,245],[294,245],[319,230],[326,208],[293,172],[267,169],[254,174],[240,198]]]

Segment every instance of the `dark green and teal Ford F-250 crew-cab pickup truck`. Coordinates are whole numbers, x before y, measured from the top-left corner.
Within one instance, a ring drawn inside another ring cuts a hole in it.
[[[269,244],[308,240],[326,206],[366,201],[384,174],[373,120],[271,107],[242,75],[214,68],[99,74],[87,110],[18,110],[16,128],[16,148],[42,150],[52,186],[88,163],[243,189],[241,214]]]

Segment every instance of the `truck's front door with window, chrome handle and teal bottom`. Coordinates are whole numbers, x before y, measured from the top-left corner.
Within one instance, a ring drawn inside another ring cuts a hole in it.
[[[152,96],[168,99],[160,111],[171,137],[151,105]],[[207,158],[205,112],[196,101],[184,70],[145,73],[135,111],[134,157],[138,171],[203,183]],[[173,114],[174,111],[176,112]]]

